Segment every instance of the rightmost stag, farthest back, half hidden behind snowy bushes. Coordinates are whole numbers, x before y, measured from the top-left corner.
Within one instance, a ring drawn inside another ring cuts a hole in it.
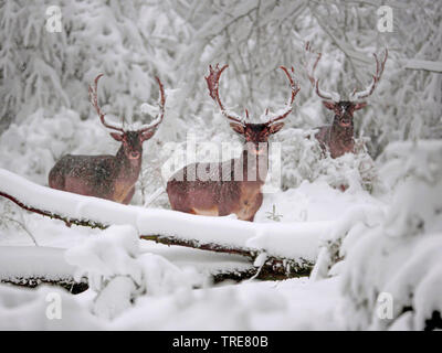
[[[311,52],[309,43],[306,45],[307,52]],[[376,73],[372,75],[371,84],[361,92],[356,89],[349,95],[348,100],[340,100],[340,96],[336,92],[324,92],[319,88],[319,79],[313,76],[313,73],[320,60],[322,53],[317,54],[316,61],[312,66],[308,79],[311,81],[316,94],[323,98],[324,106],[335,113],[333,124],[329,126],[319,127],[319,131],[315,135],[316,139],[323,151],[328,150],[332,158],[338,158],[347,152],[355,152],[355,140],[354,140],[354,113],[362,109],[367,106],[366,101],[360,101],[362,98],[370,96],[377,87],[386,66],[388,57],[388,51],[386,49],[385,57],[382,61],[378,60],[378,56],[373,54],[376,61]],[[308,69],[307,69],[308,72]]]

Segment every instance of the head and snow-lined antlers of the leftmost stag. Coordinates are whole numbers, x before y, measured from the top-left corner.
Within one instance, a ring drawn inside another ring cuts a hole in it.
[[[141,126],[137,130],[126,130],[126,129],[124,129],[123,126],[116,126],[116,125],[108,124],[105,120],[105,114],[102,113],[102,110],[98,106],[97,87],[98,87],[98,81],[102,76],[103,76],[103,74],[99,74],[98,76],[96,76],[96,78],[94,81],[94,85],[90,85],[90,89],[88,89],[90,100],[91,100],[92,105],[94,106],[96,113],[98,114],[102,124],[108,129],[118,131],[118,132],[109,132],[109,135],[116,141],[119,141],[123,143],[123,150],[124,150],[125,156],[129,160],[137,161],[141,158],[143,142],[150,139],[154,136],[154,133],[157,130],[157,127],[161,124],[162,118],[165,116],[166,97],[165,97],[165,89],[162,87],[162,84],[158,77],[155,77],[159,85],[159,93],[160,93],[159,113],[158,113],[158,116],[156,117],[156,119],[151,124],[149,124],[147,126]]]

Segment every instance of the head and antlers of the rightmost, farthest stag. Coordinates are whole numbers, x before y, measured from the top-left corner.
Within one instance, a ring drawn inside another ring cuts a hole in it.
[[[313,53],[309,42],[306,43],[305,49],[307,52]],[[323,105],[327,109],[333,110],[335,113],[334,125],[338,125],[339,127],[343,128],[352,127],[354,113],[367,106],[367,103],[360,101],[360,99],[367,98],[373,93],[376,86],[378,85],[382,76],[383,68],[386,66],[386,61],[388,57],[388,51],[386,49],[385,57],[381,62],[378,60],[378,56],[373,54],[376,61],[376,73],[375,75],[372,75],[371,84],[361,92],[356,92],[355,88],[354,92],[349,95],[349,98],[347,100],[341,100],[339,94],[336,92],[325,92],[319,88],[319,79],[314,77],[314,71],[320,60],[320,56],[322,53],[318,53],[316,56],[316,61],[312,65],[312,68],[311,69],[307,68],[308,79],[312,83],[313,87],[315,88],[317,96],[324,99]]]

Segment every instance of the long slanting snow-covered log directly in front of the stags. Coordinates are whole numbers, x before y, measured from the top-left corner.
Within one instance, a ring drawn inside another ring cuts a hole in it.
[[[0,195],[25,210],[67,224],[99,228],[129,224],[141,238],[167,245],[239,254],[251,259],[261,254],[261,263],[255,265],[276,274],[308,274],[317,256],[320,236],[334,224],[260,224],[230,216],[208,217],[127,206],[41,186],[7,170],[0,170]]]

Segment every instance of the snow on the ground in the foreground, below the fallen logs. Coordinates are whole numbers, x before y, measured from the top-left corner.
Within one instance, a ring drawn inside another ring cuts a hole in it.
[[[62,319],[48,320],[48,296],[59,293]],[[138,298],[112,321],[91,309],[90,291],[77,296],[42,286],[36,290],[0,285],[3,330],[341,330],[336,315],[337,279],[308,282],[246,282]],[[25,319],[24,319],[25,318]]]

